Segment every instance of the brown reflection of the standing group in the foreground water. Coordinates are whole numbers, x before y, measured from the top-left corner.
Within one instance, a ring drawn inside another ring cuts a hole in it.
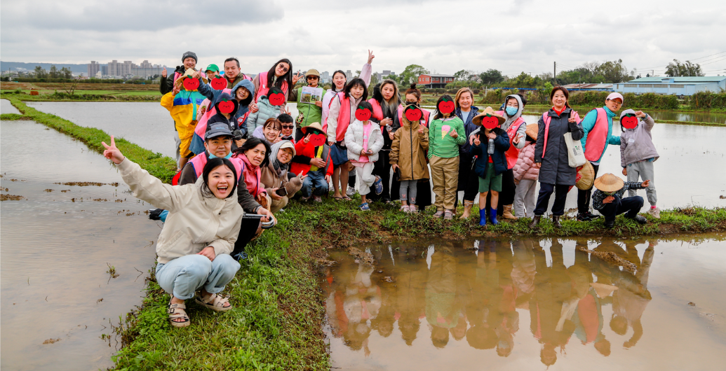
[[[372,251],[375,268],[341,255],[339,266],[326,268],[323,282],[330,335],[373,364],[391,352],[405,359],[433,357],[431,351],[452,346],[460,352],[460,344],[506,358],[532,342],[527,338],[538,346],[526,346],[526,357],[546,366],[571,349],[609,357],[611,347],[632,349],[643,337],[656,245],[603,240],[588,246],[585,239],[556,238],[437,241]],[[582,251],[587,249],[595,253]],[[600,253],[632,262],[635,270],[621,270]],[[527,312],[529,329],[521,330]],[[346,365],[349,357],[341,360],[332,348],[334,364]]]

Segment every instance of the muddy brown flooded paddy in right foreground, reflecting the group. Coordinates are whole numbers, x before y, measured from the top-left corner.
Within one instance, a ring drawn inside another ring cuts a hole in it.
[[[368,249],[376,267],[338,254],[321,280],[333,367],[722,370],[725,238],[425,241]]]

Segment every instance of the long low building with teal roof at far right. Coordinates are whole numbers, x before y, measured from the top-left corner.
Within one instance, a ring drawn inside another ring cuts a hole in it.
[[[620,93],[656,93],[677,96],[692,96],[700,91],[719,92],[726,90],[726,76],[685,76],[682,78],[637,78],[627,83],[614,84]]]

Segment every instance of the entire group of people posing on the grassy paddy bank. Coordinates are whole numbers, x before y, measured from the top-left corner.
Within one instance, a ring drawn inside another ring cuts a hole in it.
[[[274,226],[274,214],[290,199],[321,202],[330,183],[333,199],[351,201],[348,184],[353,182],[364,211],[370,210],[370,201],[400,200],[401,212],[421,212],[433,204],[433,217],[447,220],[456,214],[459,191],[464,192],[462,218],[470,216],[478,193],[482,226],[487,220],[498,224],[498,216],[531,217],[531,228],[536,228],[555,193],[552,222],[558,228],[566,193],[579,171],[568,163],[564,134],[569,133],[582,141],[595,173],[608,143],[621,145],[629,181],[606,174],[595,180],[592,193],[606,226],[612,227],[622,213],[645,222],[637,214],[643,199],[634,195],[640,188],[648,188],[657,217],[653,119],[626,110],[621,122],[628,117],[635,125],[624,125],[621,136],[613,136],[620,94],[608,96],[605,107],[592,110],[582,122],[561,86],[552,90],[552,109],[537,124],[523,120],[524,96],[511,94],[499,110],[480,111],[470,88],[461,88],[453,98],[440,96],[429,112],[421,108],[415,84],[403,94],[388,79],[370,89],[374,58],[369,51],[360,76],[350,81],[342,70],[335,71],[331,88],[311,101],[302,86],[294,88],[303,75],[293,74],[288,59],[250,78],[234,57],[224,61],[224,72],[215,64],[200,70],[196,54],[187,51],[174,74],[164,70],[160,80],[161,105],[174,120],[178,147],[179,172],[171,185],[129,164],[112,137],[105,156],[119,165],[136,197],[160,207],[152,217],[166,222],[157,244],[157,279],[172,294],[172,325],[189,324],[184,299],[202,287],[200,304],[231,308],[217,294],[239,269],[236,259],[245,256],[245,244]],[[304,78],[303,85],[319,88],[317,70],[308,70]],[[308,98],[303,101],[303,96]],[[297,117],[286,109],[287,101],[298,103]],[[353,169],[354,175],[349,174]],[[643,183],[637,183],[639,176]],[[590,213],[591,189],[579,191],[578,220],[598,217]],[[631,192],[627,198],[625,190]]]

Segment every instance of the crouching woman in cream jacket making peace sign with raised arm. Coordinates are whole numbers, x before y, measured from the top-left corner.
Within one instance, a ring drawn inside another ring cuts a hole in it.
[[[234,278],[240,264],[229,253],[240,233],[242,207],[237,203],[237,172],[229,159],[210,159],[196,183],[164,184],[125,159],[116,148],[103,143],[103,155],[113,161],[137,199],[169,211],[156,243],[156,280],[171,294],[169,321],[174,327],[189,325],[184,300],[214,311],[232,309],[228,297],[217,295]]]

